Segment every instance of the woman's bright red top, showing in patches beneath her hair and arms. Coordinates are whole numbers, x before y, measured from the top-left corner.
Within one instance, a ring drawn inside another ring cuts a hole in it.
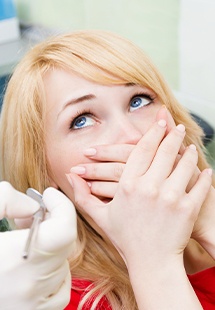
[[[193,275],[188,275],[190,283],[199,298],[199,301],[204,310],[215,310],[215,267],[206,269]],[[77,310],[78,304],[84,295],[83,290],[88,291],[88,286],[91,284],[89,281],[84,280],[73,280],[72,284],[80,287],[82,290],[72,288],[71,300],[69,305],[64,310]],[[88,304],[83,310],[89,310],[90,305]],[[111,310],[108,301],[102,298],[98,310]]]

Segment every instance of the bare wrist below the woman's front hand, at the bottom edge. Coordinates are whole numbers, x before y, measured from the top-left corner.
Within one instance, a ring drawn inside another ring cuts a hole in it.
[[[202,309],[186,275],[182,257],[157,265],[145,265],[143,257],[141,263],[128,263],[128,271],[139,309]]]

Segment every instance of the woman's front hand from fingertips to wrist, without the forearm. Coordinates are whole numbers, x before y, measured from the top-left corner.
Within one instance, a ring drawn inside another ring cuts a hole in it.
[[[83,179],[70,174],[76,202],[103,229],[126,261],[135,251],[148,255],[152,244],[156,257],[163,250],[163,258],[170,253],[182,254],[192,233],[211,177],[207,172],[201,173],[186,193],[198,156],[193,146],[187,148],[173,170],[185,135],[182,129],[179,125],[164,138],[165,128],[153,125],[131,152],[116,194],[108,204],[93,196]]]

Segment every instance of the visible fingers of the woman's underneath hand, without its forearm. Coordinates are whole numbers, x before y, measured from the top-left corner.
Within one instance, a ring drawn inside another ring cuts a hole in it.
[[[168,111],[161,107],[155,121],[167,121],[166,133],[172,128],[173,120],[168,119]],[[125,168],[129,155],[134,149],[132,144],[97,145],[86,149],[84,155],[91,163],[72,167],[71,172],[80,175],[88,182],[91,193],[101,199],[112,199],[116,193],[118,182]]]

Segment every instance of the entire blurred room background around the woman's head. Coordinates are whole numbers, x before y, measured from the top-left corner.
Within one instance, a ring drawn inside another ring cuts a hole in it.
[[[114,31],[145,50],[206,126],[215,167],[214,16],[214,0],[0,0],[0,99],[14,66],[38,41],[78,29]]]

